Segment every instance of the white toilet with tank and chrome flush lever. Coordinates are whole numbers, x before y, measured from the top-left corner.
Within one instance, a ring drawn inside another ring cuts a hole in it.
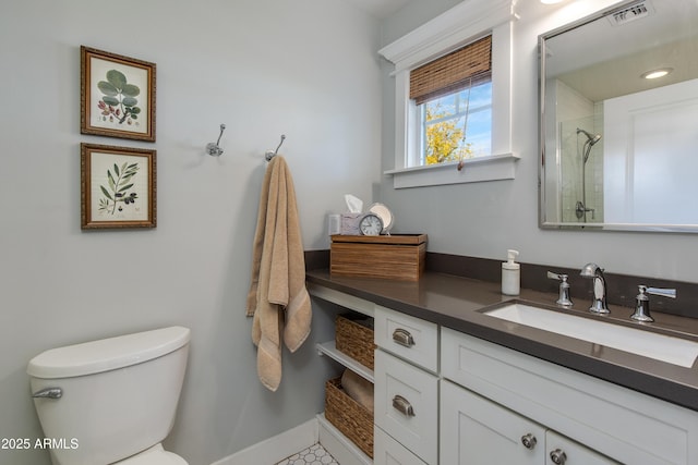
[[[174,423],[190,330],[163,328],[46,351],[27,367],[56,465],[186,465]]]

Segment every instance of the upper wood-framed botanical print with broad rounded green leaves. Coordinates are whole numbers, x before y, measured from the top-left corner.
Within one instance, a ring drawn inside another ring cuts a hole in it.
[[[155,142],[155,63],[85,46],[80,53],[80,132]]]

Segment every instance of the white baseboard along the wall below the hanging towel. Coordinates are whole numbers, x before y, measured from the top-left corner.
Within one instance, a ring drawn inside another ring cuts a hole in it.
[[[317,419],[313,418],[273,438],[250,445],[210,465],[275,464],[318,441]]]

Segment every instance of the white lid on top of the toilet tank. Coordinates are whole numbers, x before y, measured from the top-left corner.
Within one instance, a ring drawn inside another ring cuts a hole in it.
[[[141,364],[189,343],[189,328],[170,327],[43,352],[29,360],[35,378],[72,378]]]

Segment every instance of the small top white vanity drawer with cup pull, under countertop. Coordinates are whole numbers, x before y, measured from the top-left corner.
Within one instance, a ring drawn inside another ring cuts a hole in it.
[[[438,370],[438,328],[435,323],[375,307],[377,346],[430,371]]]

